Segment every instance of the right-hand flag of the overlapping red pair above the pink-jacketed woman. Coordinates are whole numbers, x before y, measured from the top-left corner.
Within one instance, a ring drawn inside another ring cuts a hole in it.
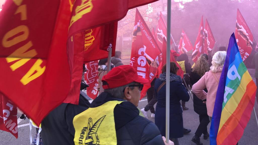
[[[204,52],[208,54],[208,52],[211,51],[215,45],[215,39],[213,37],[211,27],[209,26],[207,19],[205,22],[204,36]]]

